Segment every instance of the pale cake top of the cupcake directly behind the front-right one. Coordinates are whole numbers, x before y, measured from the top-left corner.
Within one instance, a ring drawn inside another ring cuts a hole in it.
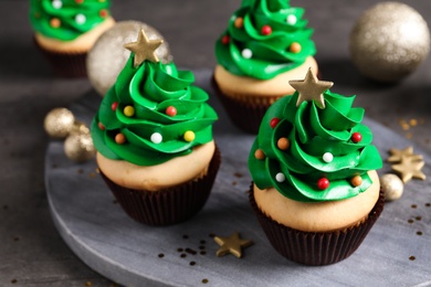
[[[236,76],[229,73],[223,66],[217,65],[214,71],[214,79],[220,91],[230,97],[241,97],[243,95],[253,96],[286,96],[292,95],[295,89],[288,84],[291,79],[304,79],[308,68],[317,74],[317,63],[313,56],[308,56],[306,61],[298,67],[284,72],[271,79],[257,79],[245,76]]]

